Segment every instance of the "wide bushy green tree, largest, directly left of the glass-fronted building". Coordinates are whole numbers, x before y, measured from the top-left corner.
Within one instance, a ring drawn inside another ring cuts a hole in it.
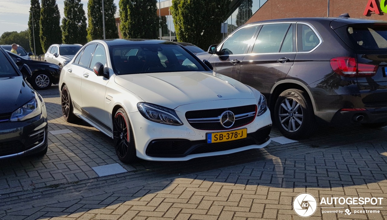
[[[220,27],[226,20],[229,4],[230,0],[172,0],[170,10],[177,40],[205,50],[220,42]]]

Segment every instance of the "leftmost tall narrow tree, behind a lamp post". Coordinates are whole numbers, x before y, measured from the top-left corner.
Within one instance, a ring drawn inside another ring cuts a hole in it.
[[[34,51],[35,54],[37,55],[43,54],[42,44],[40,43],[40,38],[39,38],[39,32],[40,32],[39,0],[31,0],[31,7],[29,8],[29,10],[33,12],[29,14],[29,20],[28,20],[29,47],[31,48],[31,51]],[[34,17],[34,20],[32,20],[32,17]],[[32,27],[33,25],[34,27]],[[34,42],[34,39],[35,39],[35,42]]]

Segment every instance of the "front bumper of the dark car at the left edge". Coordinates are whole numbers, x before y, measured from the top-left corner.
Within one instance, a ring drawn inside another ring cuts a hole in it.
[[[27,156],[47,147],[47,113],[22,122],[0,123],[0,159]]]

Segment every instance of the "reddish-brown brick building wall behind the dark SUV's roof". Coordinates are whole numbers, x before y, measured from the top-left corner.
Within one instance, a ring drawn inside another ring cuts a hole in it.
[[[387,14],[380,10],[380,2],[375,0],[380,14],[374,12],[363,15],[368,0],[330,0],[329,17],[349,13],[351,18],[386,20]],[[246,24],[269,19],[291,17],[327,17],[327,0],[268,0]]]

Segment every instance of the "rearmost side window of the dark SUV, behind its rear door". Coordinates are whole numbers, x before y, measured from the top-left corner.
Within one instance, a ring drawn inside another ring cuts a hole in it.
[[[297,24],[297,44],[299,52],[311,51],[320,43],[317,34],[306,24]]]

